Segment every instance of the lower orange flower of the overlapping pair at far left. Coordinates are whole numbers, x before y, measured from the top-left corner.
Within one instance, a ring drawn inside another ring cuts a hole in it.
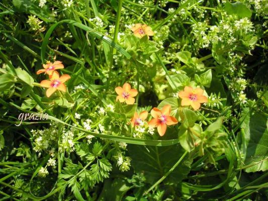
[[[47,97],[49,97],[52,93],[54,93],[56,90],[60,91],[66,91],[66,86],[64,84],[65,81],[70,79],[70,75],[64,74],[59,77],[59,73],[57,71],[54,71],[51,75],[50,80],[42,80],[40,82],[40,85],[43,87],[48,88],[46,91]]]

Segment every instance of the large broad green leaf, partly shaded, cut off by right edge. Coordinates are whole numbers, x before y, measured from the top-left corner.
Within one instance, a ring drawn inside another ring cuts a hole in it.
[[[268,170],[268,118],[261,113],[249,114],[248,112],[248,108],[243,111],[242,119],[245,119],[238,135],[238,144],[244,154],[244,163],[252,165],[245,171],[266,171]]]

